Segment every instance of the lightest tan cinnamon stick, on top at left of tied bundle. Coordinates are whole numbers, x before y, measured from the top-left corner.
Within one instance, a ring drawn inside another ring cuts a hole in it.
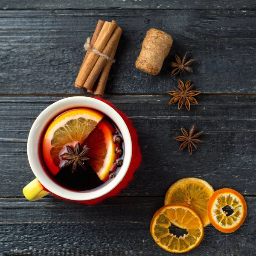
[[[102,52],[105,48],[106,44],[108,43],[109,38],[111,37],[111,34],[113,30],[116,27],[116,22],[108,22],[106,21],[104,25],[102,26],[102,30],[99,32],[99,36],[94,43],[94,49],[98,50],[99,52]],[[86,81],[87,77],[90,75],[90,72],[92,71],[96,61],[98,60],[99,55],[96,55],[92,51],[89,52],[86,60],[84,61],[84,65],[81,67],[81,70],[76,78],[76,84],[84,85],[84,82]]]

